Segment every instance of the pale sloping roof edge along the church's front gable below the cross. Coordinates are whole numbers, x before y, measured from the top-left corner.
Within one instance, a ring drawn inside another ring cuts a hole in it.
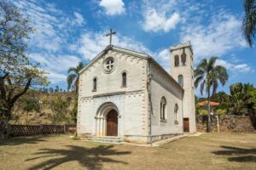
[[[93,65],[96,60],[100,59],[104,54],[107,54],[109,50],[113,50],[122,54],[129,54],[131,56],[135,56],[135,57],[139,57],[139,58],[143,58],[143,59],[148,59],[150,58],[150,56],[148,54],[143,54],[143,53],[139,53],[137,51],[132,51],[130,49],[125,49],[125,48],[119,48],[119,47],[115,47],[113,45],[108,45],[107,48],[103,49],[102,52],[100,54],[97,54],[95,58],[91,59],[88,65],[85,65],[84,68],[79,71],[79,75],[82,74],[88,67],[90,67],[90,65]]]

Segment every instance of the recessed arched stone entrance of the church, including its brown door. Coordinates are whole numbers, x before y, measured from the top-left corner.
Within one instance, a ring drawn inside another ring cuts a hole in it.
[[[107,102],[96,112],[96,136],[119,136],[119,111],[116,105]]]

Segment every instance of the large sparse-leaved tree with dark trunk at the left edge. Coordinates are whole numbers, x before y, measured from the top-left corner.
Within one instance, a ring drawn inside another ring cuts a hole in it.
[[[32,65],[27,44],[33,32],[19,9],[0,0],[0,119],[9,122],[15,102],[29,88],[47,84],[44,71]]]

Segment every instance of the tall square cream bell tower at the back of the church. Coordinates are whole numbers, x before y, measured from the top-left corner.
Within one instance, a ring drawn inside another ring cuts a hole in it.
[[[183,132],[195,133],[195,83],[190,42],[171,47],[171,75],[183,87]]]

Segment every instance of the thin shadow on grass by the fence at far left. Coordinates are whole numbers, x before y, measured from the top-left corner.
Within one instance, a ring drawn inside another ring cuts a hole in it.
[[[0,145],[38,144],[39,142],[45,141],[43,139],[45,137],[47,135],[0,139]]]

